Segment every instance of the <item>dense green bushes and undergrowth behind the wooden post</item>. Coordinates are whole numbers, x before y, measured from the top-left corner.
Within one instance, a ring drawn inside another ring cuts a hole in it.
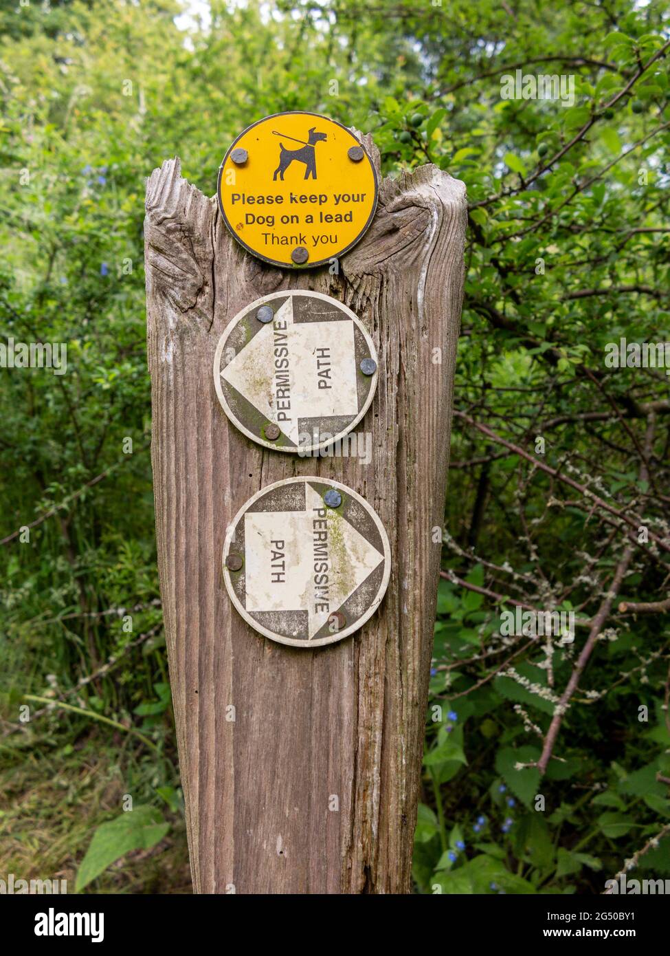
[[[668,3],[208,10],[0,12],[0,341],[68,348],[64,376],[0,369],[3,870],[190,890],[144,178],[179,154],[212,194],[241,129],[307,109],[373,131],[386,174],[437,163],[470,202],[417,890],[599,893],[635,855],[669,876],[668,378],[604,361],[670,340]],[[501,98],[516,69],[574,76],[573,105]],[[575,640],[501,635],[516,603],[573,610]]]

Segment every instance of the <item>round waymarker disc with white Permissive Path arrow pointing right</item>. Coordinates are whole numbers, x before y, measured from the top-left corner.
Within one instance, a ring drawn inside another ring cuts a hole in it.
[[[388,585],[391,549],[356,491],[324,478],[287,478],[237,512],[223,566],[227,593],[255,631],[312,648],[341,641],[372,617]]]

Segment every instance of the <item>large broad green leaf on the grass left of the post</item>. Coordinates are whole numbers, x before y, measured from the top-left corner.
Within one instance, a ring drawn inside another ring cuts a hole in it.
[[[129,810],[109,823],[102,823],[79,865],[76,893],[99,877],[115,860],[125,857],[132,850],[150,850],[156,846],[169,829],[170,824],[163,820],[161,812],[148,805]]]

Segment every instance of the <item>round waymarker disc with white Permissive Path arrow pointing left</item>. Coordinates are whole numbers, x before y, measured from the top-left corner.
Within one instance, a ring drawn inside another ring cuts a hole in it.
[[[279,451],[332,445],[365,415],[377,352],[355,313],[300,289],[251,302],[227,325],[214,355],[214,386],[230,421]]]

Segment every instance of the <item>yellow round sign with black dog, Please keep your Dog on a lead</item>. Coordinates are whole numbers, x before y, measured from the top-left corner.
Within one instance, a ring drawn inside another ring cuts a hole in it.
[[[316,113],[277,113],[241,133],[219,170],[227,228],[275,266],[322,266],[372,222],[377,172],[354,134]]]

